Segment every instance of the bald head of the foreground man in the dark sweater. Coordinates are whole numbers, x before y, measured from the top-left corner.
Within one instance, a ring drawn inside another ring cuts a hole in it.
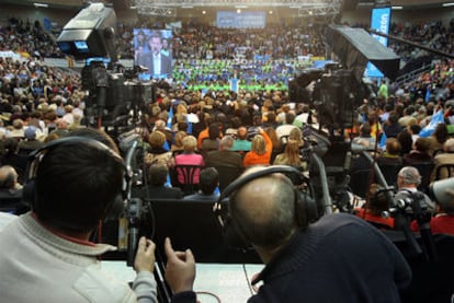
[[[243,176],[262,170],[250,168]],[[256,178],[230,197],[231,217],[250,243],[272,249],[296,230],[294,193],[292,182],[282,174]]]

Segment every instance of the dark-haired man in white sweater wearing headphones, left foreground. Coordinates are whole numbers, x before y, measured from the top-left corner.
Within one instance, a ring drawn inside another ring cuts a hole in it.
[[[132,289],[98,260],[116,248],[89,241],[114,201],[123,207],[124,163],[115,143],[94,129],[71,136],[29,163],[24,199],[32,211],[0,232],[1,301],[157,302],[150,240],[139,240]]]

